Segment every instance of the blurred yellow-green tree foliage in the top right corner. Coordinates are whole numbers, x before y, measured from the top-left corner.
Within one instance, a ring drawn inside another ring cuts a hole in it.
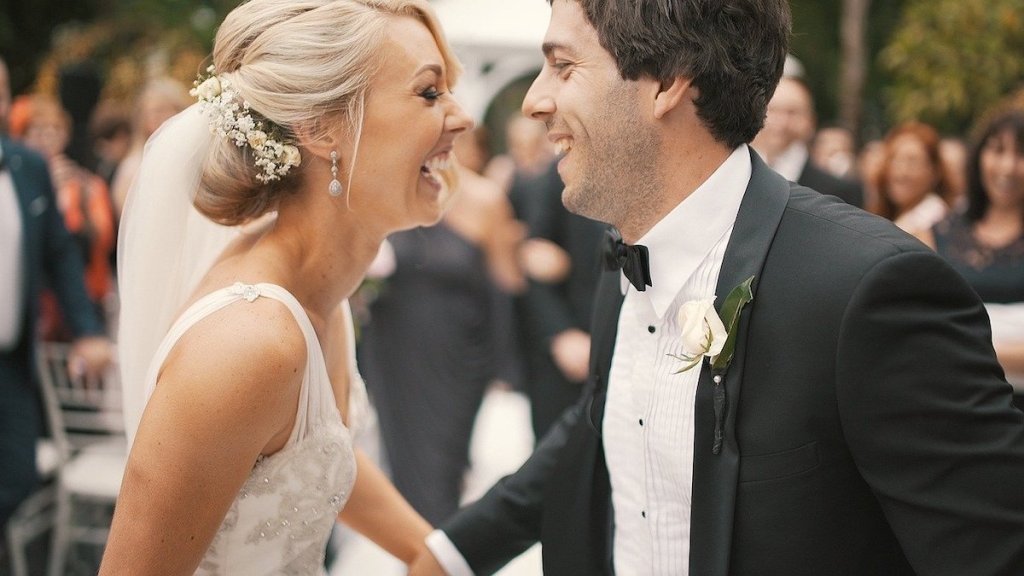
[[[881,54],[893,121],[963,133],[1024,82],[1024,0],[908,0]]]

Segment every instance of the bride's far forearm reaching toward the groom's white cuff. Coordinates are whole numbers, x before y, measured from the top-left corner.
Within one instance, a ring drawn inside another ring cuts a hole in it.
[[[339,518],[395,558],[412,563],[424,547],[430,524],[361,450],[355,452],[355,486]]]

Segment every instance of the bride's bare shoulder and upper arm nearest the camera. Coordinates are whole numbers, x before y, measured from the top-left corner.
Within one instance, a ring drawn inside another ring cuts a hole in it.
[[[101,575],[196,571],[258,455],[287,442],[305,359],[291,313],[268,298],[178,341],[128,458]]]

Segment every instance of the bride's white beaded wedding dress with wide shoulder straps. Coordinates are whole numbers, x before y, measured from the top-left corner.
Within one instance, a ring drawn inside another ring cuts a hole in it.
[[[246,305],[259,297],[287,305],[306,339],[295,427],[284,448],[256,462],[196,574],[323,574],[331,528],[355,482],[352,437],[338,412],[319,341],[301,304],[280,286],[237,283],[196,301],[158,348],[145,378],[145,398],[153,394],[160,368],[182,334],[224,306]],[[351,333],[348,341],[354,400],[358,400],[362,388]],[[358,403],[353,402],[353,409],[359,409]]]

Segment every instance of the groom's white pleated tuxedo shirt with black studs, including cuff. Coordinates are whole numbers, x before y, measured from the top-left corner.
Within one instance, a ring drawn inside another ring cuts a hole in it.
[[[682,353],[676,321],[680,304],[715,295],[750,179],[750,152],[742,145],[637,242],[649,251],[651,286],[638,292],[623,276],[626,299],[618,315],[602,423],[618,576],[689,572],[693,405],[699,366],[674,374],[682,362],[668,355]],[[434,531],[427,546],[450,575],[472,576],[443,532]]]

